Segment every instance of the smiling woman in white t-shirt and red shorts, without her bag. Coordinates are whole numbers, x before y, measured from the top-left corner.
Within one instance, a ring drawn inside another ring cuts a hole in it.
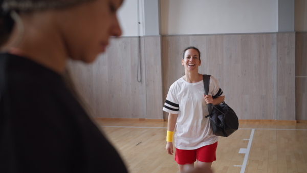
[[[185,75],[170,86],[163,107],[163,111],[169,113],[166,151],[173,154],[172,138],[175,134],[175,160],[179,170],[194,170],[197,160],[197,170],[210,172],[211,164],[216,160],[218,137],[212,133],[210,119],[204,117],[209,114],[206,104],[220,104],[225,97],[213,76],[210,77],[208,95],[203,94],[203,75],[198,72],[201,53],[197,48],[186,48],[181,62]]]

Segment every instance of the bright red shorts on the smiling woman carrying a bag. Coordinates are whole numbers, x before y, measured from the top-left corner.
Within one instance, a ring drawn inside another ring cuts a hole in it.
[[[178,149],[176,148],[175,160],[180,165],[192,164],[197,160],[201,162],[213,162],[216,160],[215,151],[217,142],[211,145],[206,145],[198,149]]]

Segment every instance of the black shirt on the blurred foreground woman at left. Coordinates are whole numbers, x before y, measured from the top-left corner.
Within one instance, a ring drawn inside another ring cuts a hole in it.
[[[4,57],[0,172],[127,172],[61,75],[24,57]]]

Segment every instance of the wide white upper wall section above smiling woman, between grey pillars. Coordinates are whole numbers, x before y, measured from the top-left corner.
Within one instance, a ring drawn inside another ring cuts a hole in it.
[[[277,32],[278,0],[161,0],[162,35]]]

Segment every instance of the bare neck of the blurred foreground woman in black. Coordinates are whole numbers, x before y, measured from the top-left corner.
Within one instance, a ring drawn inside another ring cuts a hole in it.
[[[35,25],[39,21],[24,22],[25,32],[21,34],[15,26],[9,41],[12,44],[6,48],[12,54],[28,58],[61,74],[68,58],[63,41],[54,26]],[[31,22],[34,26],[28,25]],[[21,37],[21,41],[13,44],[16,37]]]

